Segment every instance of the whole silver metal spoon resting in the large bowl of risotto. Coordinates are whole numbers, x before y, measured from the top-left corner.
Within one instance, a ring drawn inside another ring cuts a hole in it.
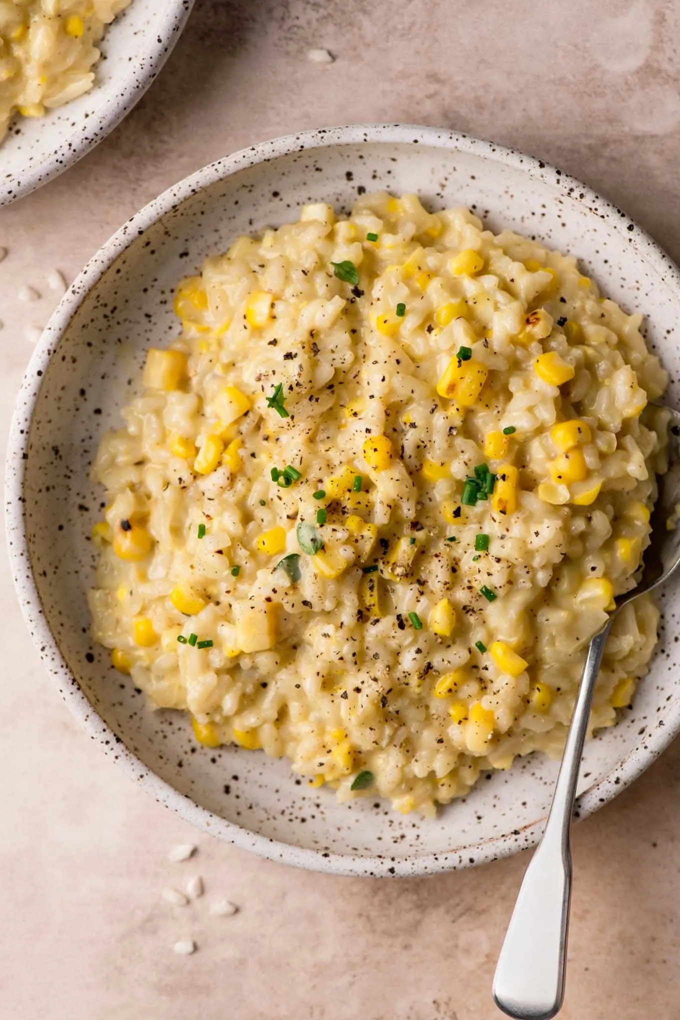
[[[637,588],[616,599],[616,609],[590,642],[551,812],[526,869],[495,968],[493,999],[516,1020],[550,1020],[562,1007],[571,899],[571,819],[592,693],[612,623],[624,606],[663,584],[680,564],[680,528],[669,530],[668,526],[680,503],[680,413],[667,410],[671,467],[659,479],[642,578]]]

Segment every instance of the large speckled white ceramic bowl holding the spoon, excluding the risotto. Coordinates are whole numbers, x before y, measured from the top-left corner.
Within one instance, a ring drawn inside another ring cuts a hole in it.
[[[560,170],[486,142],[432,129],[341,128],[266,142],[161,195],[102,248],[52,317],[29,366],[9,443],[9,551],[33,639],[91,737],[156,798],[208,832],[275,860],[338,874],[424,874],[535,843],[557,765],[542,756],[482,779],[434,821],[384,804],[336,804],[286,762],[234,747],[198,748],[186,716],[148,711],[89,638],[90,528],[102,492],[89,465],[102,430],[140,377],[145,349],[176,334],[179,277],[238,234],[297,217],[303,202],[347,209],[358,193],[417,192],[432,208],[463,203],[494,230],[514,227],[579,257],[624,308],[650,313],[648,341],[674,377],[678,270],[634,223]],[[677,386],[670,399],[677,405]],[[586,750],[578,812],[635,778],[680,724],[669,649],[678,590],[649,676],[621,722]]]

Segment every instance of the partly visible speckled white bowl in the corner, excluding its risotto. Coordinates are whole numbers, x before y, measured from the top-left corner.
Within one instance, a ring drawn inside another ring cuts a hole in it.
[[[0,144],[0,205],[47,184],[132,110],[172,52],[194,0],[133,0],[106,30],[95,84],[36,119],[17,117]]]

